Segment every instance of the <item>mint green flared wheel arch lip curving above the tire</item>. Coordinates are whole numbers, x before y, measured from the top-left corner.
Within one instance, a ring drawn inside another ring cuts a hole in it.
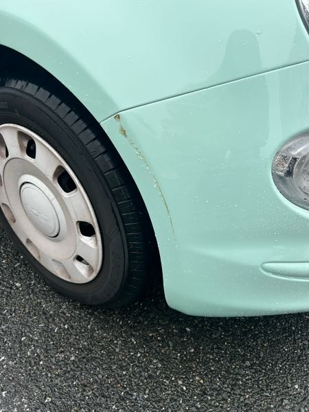
[[[18,64],[30,60],[64,85],[100,122],[117,112],[117,106],[88,67],[39,26],[0,10],[0,62],[16,52]]]

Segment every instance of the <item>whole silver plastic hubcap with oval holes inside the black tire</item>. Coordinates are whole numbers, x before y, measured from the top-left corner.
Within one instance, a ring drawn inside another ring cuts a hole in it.
[[[69,165],[23,126],[0,126],[0,204],[21,242],[54,275],[76,284],[102,266],[93,207]]]

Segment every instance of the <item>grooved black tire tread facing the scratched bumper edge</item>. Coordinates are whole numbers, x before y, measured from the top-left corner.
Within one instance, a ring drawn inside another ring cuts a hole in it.
[[[16,76],[2,71],[0,87],[23,91],[45,104],[73,130],[98,165],[122,219],[129,262],[128,274],[119,292],[104,306],[115,308],[133,301],[150,281],[150,250],[156,248],[157,243],[141,195],[113,144],[87,109],[54,78],[40,72],[34,76],[27,70]]]

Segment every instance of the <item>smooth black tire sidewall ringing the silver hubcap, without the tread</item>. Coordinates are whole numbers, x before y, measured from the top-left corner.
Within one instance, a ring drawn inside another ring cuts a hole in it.
[[[128,270],[126,237],[117,206],[104,176],[87,148],[73,130],[51,108],[32,95],[0,88],[0,125],[18,124],[32,130],[65,159],[84,187],[98,220],[103,244],[103,263],[98,275],[86,284],[73,284],[47,271],[16,236],[1,212],[1,220],[21,253],[45,281],[60,293],[85,304],[102,305],[111,301],[121,288]]]

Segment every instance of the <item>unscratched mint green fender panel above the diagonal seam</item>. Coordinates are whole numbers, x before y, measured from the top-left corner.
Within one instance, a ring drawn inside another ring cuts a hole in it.
[[[1,1],[0,43],[54,74],[98,121],[309,58],[294,0]]]

